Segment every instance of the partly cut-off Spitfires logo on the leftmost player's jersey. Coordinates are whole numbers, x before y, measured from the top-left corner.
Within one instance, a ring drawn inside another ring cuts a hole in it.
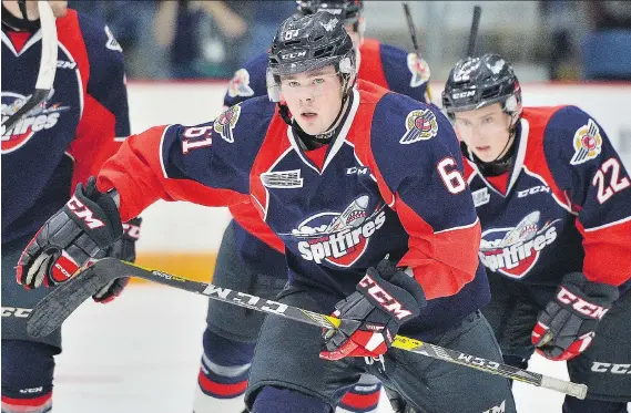
[[[2,154],[8,154],[22,147],[35,134],[35,132],[50,130],[59,122],[61,112],[70,106],[61,106],[60,103],[49,104],[54,90],[42,103],[33,107],[24,117],[8,131],[2,126]],[[13,92],[2,92],[2,122],[18,112],[31,96],[23,96]]]

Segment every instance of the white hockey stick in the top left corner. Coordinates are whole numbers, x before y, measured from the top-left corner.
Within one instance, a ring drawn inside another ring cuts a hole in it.
[[[2,135],[9,132],[18,121],[48,97],[54,82],[58,52],[55,18],[48,1],[38,1],[38,9],[42,31],[42,56],[35,90],[29,100],[24,102],[22,107],[10,115],[7,121],[2,122]]]

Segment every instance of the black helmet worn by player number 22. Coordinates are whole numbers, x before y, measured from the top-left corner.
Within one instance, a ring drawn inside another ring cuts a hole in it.
[[[447,79],[442,91],[442,109],[450,118],[455,112],[471,111],[501,103],[512,116],[512,125],[521,117],[521,87],[512,66],[498,54],[460,60]]]

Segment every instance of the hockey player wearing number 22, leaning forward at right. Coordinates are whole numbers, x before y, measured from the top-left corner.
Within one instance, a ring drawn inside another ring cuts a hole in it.
[[[605,132],[576,106],[522,107],[496,54],[458,62],[442,105],[462,141],[491,286],[484,313],[505,362],[567,360],[589,392],[563,413],[627,412],[631,182]]]

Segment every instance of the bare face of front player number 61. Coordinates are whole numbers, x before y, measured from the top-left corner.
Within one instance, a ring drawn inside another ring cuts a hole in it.
[[[342,109],[342,81],[333,65],[281,78],[282,99],[303,131],[326,132]]]

